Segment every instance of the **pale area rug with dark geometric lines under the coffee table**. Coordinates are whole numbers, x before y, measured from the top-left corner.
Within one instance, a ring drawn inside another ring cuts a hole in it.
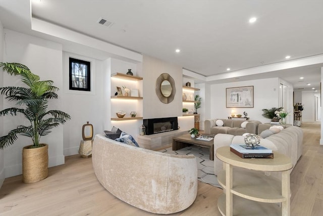
[[[214,175],[214,161],[209,159],[209,148],[192,145],[176,151],[173,151],[172,147],[170,147],[159,152],[179,155],[193,154],[197,163],[197,180],[214,187],[222,188],[217,177]]]

